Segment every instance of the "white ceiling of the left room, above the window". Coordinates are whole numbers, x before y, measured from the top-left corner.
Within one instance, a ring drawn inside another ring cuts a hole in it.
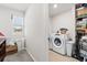
[[[0,6],[25,12],[30,3],[0,3]]]

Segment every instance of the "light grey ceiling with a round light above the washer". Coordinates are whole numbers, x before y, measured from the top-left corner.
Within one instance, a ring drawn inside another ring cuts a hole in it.
[[[72,9],[72,7],[74,7],[74,3],[57,3],[57,7],[54,8],[55,3],[50,3],[48,8],[50,8],[50,17],[54,17],[56,14],[61,14],[65,11],[68,11]]]

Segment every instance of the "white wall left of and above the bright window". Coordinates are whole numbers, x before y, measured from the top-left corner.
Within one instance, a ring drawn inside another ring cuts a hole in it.
[[[4,33],[7,37],[13,36],[11,14],[23,17],[23,13],[20,11],[0,7],[0,32]]]

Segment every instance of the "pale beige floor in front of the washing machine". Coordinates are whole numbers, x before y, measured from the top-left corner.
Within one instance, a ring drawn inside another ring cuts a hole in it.
[[[63,55],[57,54],[53,51],[48,51],[48,61],[50,62],[79,62],[76,58],[63,56]]]

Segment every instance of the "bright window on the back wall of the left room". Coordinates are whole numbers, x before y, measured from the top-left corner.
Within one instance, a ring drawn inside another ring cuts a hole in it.
[[[23,31],[24,31],[24,26],[23,26],[23,18],[21,17],[17,17],[17,15],[12,15],[12,22],[13,22],[13,35],[15,37],[22,37],[23,36]]]

